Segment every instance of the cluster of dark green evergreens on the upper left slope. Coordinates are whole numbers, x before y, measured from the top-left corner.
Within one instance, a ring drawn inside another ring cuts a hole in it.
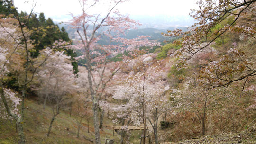
[[[27,22],[27,12],[21,11],[18,13],[15,8],[12,8],[11,0],[0,0],[0,14],[8,16],[10,14],[17,14],[21,22]],[[52,47],[54,42],[57,40],[64,40],[66,42],[71,42],[68,37],[68,33],[65,28],[62,27],[61,31],[58,25],[55,25],[51,18],[46,20],[44,13],[40,13],[37,17],[37,14],[32,13],[29,21],[26,23],[26,27],[30,30],[33,30],[30,39],[33,41],[34,48],[30,50],[30,54],[33,58],[36,58],[39,55],[39,51],[45,49],[46,47]],[[56,49],[59,50],[59,49]],[[74,60],[74,57],[77,55],[73,53],[73,50],[65,50],[65,54],[71,56],[71,59]],[[76,62],[72,62],[74,72],[78,72],[78,65]]]

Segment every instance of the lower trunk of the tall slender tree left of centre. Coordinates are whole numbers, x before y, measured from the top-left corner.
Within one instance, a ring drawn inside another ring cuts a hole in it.
[[[98,119],[98,102],[93,104],[92,110],[93,110],[95,144],[101,144],[100,131],[99,131],[99,119]]]

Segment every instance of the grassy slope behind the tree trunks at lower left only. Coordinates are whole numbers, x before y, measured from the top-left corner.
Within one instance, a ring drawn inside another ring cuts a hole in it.
[[[74,116],[69,117],[69,112],[61,111],[56,117],[49,138],[45,138],[48,131],[52,110],[46,107],[43,110],[42,105],[38,105],[36,101],[26,100],[24,132],[26,135],[27,144],[92,144],[87,139],[94,139],[93,119],[90,118],[90,132],[87,133],[87,122],[82,121],[80,129],[80,137],[76,137],[77,123]],[[105,144],[105,139],[113,138],[111,129],[111,120],[105,118],[103,131],[100,130],[101,143]],[[67,128],[69,130],[67,131]],[[115,137],[116,141],[118,140]],[[0,118],[0,144],[17,144],[18,134],[16,133],[15,123],[10,120]]]

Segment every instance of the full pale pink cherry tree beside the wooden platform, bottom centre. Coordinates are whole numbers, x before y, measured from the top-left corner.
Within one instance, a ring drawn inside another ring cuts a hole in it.
[[[158,66],[151,66],[146,72],[132,73],[116,88],[113,95],[113,99],[121,103],[113,107],[114,117],[117,118],[115,122],[126,121],[127,124],[134,125],[143,123],[145,143],[146,120],[148,120],[153,129],[155,143],[158,144],[158,118],[171,110],[171,103],[165,95],[165,91],[169,89],[164,81],[165,72]]]

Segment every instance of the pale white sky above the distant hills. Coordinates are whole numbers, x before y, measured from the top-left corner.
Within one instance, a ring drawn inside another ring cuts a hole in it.
[[[30,12],[36,0],[14,0],[14,5],[18,11]],[[104,4],[99,4],[95,9],[90,9],[92,13],[98,13],[107,8],[109,0],[103,0]],[[189,17],[190,9],[196,9],[197,0],[129,0],[121,3],[117,9],[123,14],[129,14],[131,18],[141,21],[141,23],[160,23],[168,26],[192,25],[193,19]],[[44,12],[46,18],[52,18],[55,22],[66,22],[72,17],[70,14],[81,13],[78,0],[37,0],[34,12]]]

